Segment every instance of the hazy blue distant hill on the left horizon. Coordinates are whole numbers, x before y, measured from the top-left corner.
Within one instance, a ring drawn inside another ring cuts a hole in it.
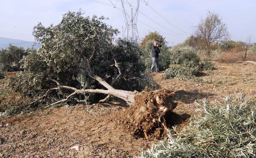
[[[31,41],[16,40],[16,39],[0,37],[0,48],[3,48],[3,49],[7,48],[9,43],[11,43],[12,45],[24,47],[25,49],[29,48],[33,45],[33,42],[31,42]],[[40,46],[39,44],[36,44],[34,46],[34,48],[38,49],[39,46]]]

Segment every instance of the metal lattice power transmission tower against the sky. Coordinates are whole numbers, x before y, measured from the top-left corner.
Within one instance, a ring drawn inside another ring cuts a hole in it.
[[[128,0],[126,0],[128,2]],[[137,17],[138,17],[138,11],[139,11],[139,0],[137,0],[137,6],[135,10],[132,10],[132,5],[130,2],[128,2],[130,8],[131,8],[131,13],[127,13],[125,9],[125,0],[121,0],[122,3],[122,11],[124,14],[125,22],[126,22],[126,27],[125,27],[125,36],[124,40],[131,41],[135,44],[139,44],[139,33],[137,29]]]

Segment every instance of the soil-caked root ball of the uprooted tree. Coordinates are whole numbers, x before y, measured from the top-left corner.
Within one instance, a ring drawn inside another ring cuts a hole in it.
[[[163,138],[170,127],[169,119],[176,106],[171,99],[173,94],[166,89],[140,92],[135,96],[132,107],[119,115],[124,128],[139,138]]]

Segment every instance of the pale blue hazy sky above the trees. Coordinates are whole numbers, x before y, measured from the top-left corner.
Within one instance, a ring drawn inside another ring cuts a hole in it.
[[[138,0],[0,0],[0,37],[34,41],[33,27],[41,22],[45,27],[57,25],[68,11],[84,11],[84,16],[104,15],[105,23],[126,31],[123,14],[133,13]],[[182,43],[192,35],[207,13],[219,14],[227,25],[230,40],[256,42],[256,0],[139,0],[137,31],[139,38],[157,31],[168,46]],[[127,17],[129,20],[129,17]],[[134,30],[135,31],[135,30]],[[124,32],[126,35],[127,32]],[[118,37],[121,37],[121,33]]]

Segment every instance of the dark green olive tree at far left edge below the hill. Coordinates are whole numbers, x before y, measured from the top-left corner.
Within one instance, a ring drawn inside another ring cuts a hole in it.
[[[0,50],[1,71],[20,71],[19,61],[26,55],[27,51],[23,47],[9,44],[8,48],[2,48]]]

